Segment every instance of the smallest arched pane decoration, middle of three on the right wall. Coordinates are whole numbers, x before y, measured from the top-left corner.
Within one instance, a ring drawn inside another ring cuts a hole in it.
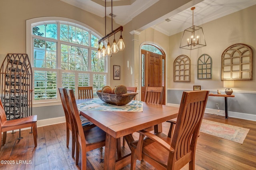
[[[212,79],[212,57],[202,54],[197,60],[197,78]]]

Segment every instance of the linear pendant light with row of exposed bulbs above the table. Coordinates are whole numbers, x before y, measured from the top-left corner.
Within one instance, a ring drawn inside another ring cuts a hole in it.
[[[111,56],[112,53],[117,53],[118,51],[122,51],[124,50],[124,41],[123,41],[123,37],[122,37],[122,31],[123,31],[123,27],[120,26],[118,28],[116,28],[116,30],[113,31],[113,5],[112,5],[112,0],[111,0],[111,25],[112,25],[112,32],[110,32],[109,34],[106,35],[106,0],[105,0],[105,36],[100,39],[98,41],[98,57],[106,57]],[[116,43],[116,39],[115,39],[115,34],[117,32],[120,32],[120,38],[118,43]],[[112,46],[110,46],[110,42],[109,42],[109,38],[114,35],[114,40],[113,40],[113,44]],[[104,41],[108,39],[108,45],[107,47],[105,47],[104,45]],[[100,43],[103,42],[103,46],[102,49],[100,49]]]

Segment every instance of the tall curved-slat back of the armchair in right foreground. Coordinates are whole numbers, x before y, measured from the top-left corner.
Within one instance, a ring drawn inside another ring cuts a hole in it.
[[[183,92],[171,142],[171,146],[175,151],[169,155],[173,159],[174,169],[180,169],[185,165],[179,163],[175,166],[177,160],[180,160],[187,154],[194,154],[208,94],[209,91]]]

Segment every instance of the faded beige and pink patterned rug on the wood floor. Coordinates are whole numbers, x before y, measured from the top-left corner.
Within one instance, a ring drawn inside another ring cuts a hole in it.
[[[240,144],[243,144],[249,130],[250,129],[248,128],[226,125],[204,119],[200,127],[200,132],[231,140]]]

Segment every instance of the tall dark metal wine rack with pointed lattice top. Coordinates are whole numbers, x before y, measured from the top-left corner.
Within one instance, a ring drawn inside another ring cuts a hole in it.
[[[32,68],[27,54],[7,54],[0,67],[0,95],[7,120],[32,115]]]

